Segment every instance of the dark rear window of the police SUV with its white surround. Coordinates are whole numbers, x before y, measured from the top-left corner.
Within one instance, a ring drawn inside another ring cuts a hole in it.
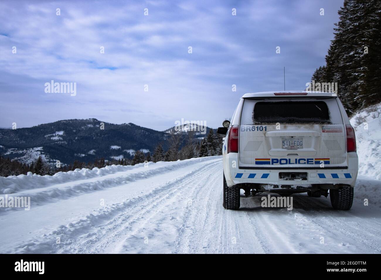
[[[245,99],[241,125],[262,123],[343,123],[335,99],[261,101]]]

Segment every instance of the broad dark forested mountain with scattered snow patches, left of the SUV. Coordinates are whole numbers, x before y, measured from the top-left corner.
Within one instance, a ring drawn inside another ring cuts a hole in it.
[[[152,153],[158,144],[166,150],[168,137],[164,131],[133,123],[117,125],[94,118],[61,120],[30,128],[0,129],[0,154],[22,163],[31,163],[40,155],[51,165],[57,160],[62,164],[93,162],[102,157],[132,158],[137,150]]]

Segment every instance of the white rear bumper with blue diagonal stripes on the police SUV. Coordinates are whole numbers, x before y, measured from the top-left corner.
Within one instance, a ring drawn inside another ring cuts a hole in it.
[[[272,185],[312,185],[312,184],[347,184],[354,187],[357,172],[358,158],[356,153],[349,153],[347,166],[320,168],[319,166],[306,166],[306,168],[279,168],[261,167],[239,168],[234,163],[238,162],[238,155],[234,153],[224,155],[224,174],[228,186],[241,183],[272,184]],[[236,164],[238,165],[238,163]],[[307,180],[285,180],[279,178],[281,172],[306,172]]]

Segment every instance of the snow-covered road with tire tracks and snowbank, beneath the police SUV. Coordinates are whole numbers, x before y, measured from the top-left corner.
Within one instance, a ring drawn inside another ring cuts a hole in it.
[[[0,253],[381,252],[381,182],[359,177],[350,211],[306,194],[291,211],[262,208],[267,194],[243,193],[233,211],[222,172],[222,158],[207,157],[0,178],[0,190],[32,200],[1,209]]]

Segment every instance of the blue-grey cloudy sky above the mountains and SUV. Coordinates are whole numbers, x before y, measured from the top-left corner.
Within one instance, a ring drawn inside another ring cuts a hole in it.
[[[283,90],[283,66],[286,90],[303,90],[325,63],[341,5],[1,1],[0,126],[97,118],[165,130],[184,118],[216,128],[244,93]],[[51,80],[77,83],[76,96],[45,93]]]

